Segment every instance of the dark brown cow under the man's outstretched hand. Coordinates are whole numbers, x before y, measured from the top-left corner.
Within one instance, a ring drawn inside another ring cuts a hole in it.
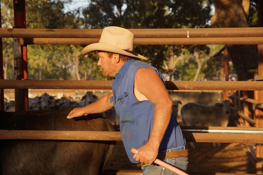
[[[115,131],[99,114],[67,119],[74,107],[27,112],[0,111],[0,129]],[[1,140],[1,173],[99,175],[113,156],[111,141]]]

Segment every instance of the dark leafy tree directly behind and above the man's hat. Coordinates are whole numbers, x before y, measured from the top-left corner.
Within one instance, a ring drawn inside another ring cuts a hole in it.
[[[80,21],[84,28],[96,29],[106,26],[160,29],[207,27],[212,4],[211,0],[90,0],[89,2],[90,5],[83,8],[84,17]],[[142,45],[135,46],[135,51],[149,58],[146,62],[167,73],[171,79],[176,70],[176,61],[174,62],[173,57],[179,58],[182,52],[180,49],[183,47]]]

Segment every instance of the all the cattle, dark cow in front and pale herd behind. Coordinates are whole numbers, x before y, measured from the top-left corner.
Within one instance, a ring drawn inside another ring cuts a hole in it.
[[[91,92],[84,96],[55,98],[44,93],[29,99],[29,111],[14,112],[14,101],[5,100],[0,111],[1,130],[115,131],[119,124],[114,108],[102,114],[89,114],[73,119],[67,115],[74,107],[93,103],[98,98]],[[174,98],[177,117],[181,103]],[[231,103],[225,100],[207,106],[187,103],[181,108],[182,125],[227,126]],[[108,118],[108,119],[106,119]],[[94,174],[104,171],[113,157],[112,142],[1,140],[0,174]],[[192,146],[194,147],[193,143]]]

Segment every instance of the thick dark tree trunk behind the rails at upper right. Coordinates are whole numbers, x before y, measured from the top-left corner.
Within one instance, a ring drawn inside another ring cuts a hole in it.
[[[218,27],[249,27],[240,0],[214,0],[215,13],[211,23]],[[245,4],[245,3],[244,3]],[[257,45],[226,45],[238,80],[253,79],[250,69],[258,67]]]

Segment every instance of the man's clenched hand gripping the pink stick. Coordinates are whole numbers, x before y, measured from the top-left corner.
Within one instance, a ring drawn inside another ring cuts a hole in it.
[[[140,161],[145,164],[153,164],[153,161],[158,155],[158,148],[154,149],[154,146],[149,142],[138,149],[138,153],[134,154],[133,158],[136,161]]]

